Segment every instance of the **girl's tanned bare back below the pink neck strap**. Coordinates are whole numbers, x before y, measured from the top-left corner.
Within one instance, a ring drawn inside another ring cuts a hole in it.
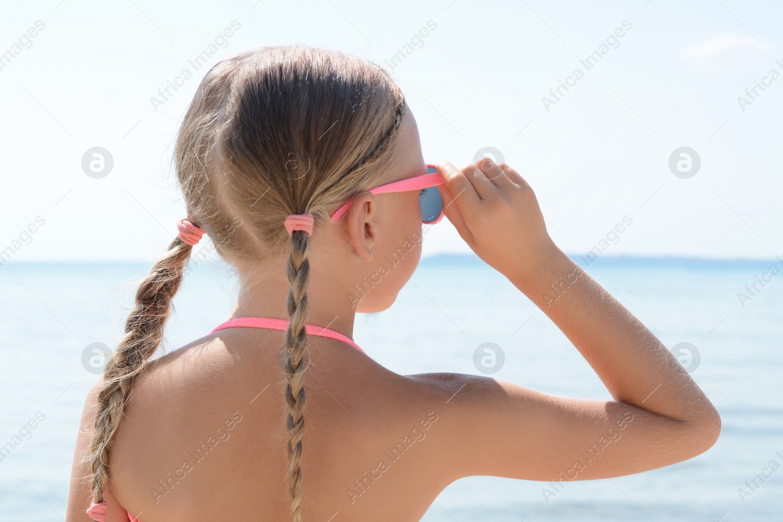
[[[121,506],[139,520],[287,520],[282,338],[232,329],[148,366],[113,447]],[[305,520],[418,520],[458,478],[449,430],[471,389],[452,398],[460,376],[399,376],[338,340],[308,351]]]

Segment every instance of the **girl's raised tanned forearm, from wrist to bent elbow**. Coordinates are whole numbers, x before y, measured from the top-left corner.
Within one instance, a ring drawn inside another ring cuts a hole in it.
[[[535,273],[512,278],[571,340],[615,401],[691,423],[712,445],[720,416],[702,389],[658,337],[559,248]]]

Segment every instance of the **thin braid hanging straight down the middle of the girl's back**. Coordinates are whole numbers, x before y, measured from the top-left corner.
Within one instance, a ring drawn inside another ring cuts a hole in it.
[[[287,308],[290,322],[286,329],[285,373],[287,376],[286,405],[288,409],[288,484],[291,513],[294,522],[301,522],[301,438],[305,429],[304,372],[307,362],[305,344],[307,332],[307,283],[310,264],[307,259],[310,239],[307,232],[296,230],[291,235],[291,254],[286,265],[290,291]]]

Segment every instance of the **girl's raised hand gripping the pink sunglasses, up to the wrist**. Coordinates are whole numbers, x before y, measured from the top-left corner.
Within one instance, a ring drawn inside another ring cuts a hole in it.
[[[443,212],[465,243],[509,279],[525,279],[554,247],[536,194],[517,171],[484,157],[461,171],[442,161]]]

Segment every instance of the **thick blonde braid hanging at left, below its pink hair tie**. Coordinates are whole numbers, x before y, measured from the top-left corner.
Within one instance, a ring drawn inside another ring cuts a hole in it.
[[[193,248],[179,237],[168,246],[136,291],[135,308],[125,322],[125,336],[103,370],[98,412],[90,443],[92,502],[103,500],[109,477],[109,449],[120,426],[133,378],[142,370],[163,338],[171,314],[171,299],[182,283],[182,273]]]

